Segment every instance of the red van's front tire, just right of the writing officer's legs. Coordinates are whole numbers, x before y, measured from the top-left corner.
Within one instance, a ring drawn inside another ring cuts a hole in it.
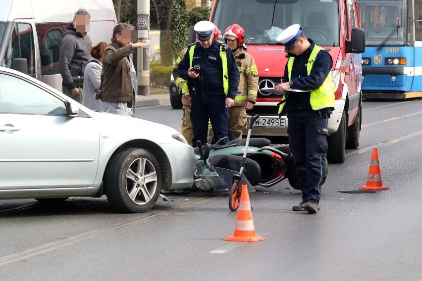
[[[329,163],[343,163],[346,160],[346,113],[343,110],[337,132],[327,137],[327,160]]]

